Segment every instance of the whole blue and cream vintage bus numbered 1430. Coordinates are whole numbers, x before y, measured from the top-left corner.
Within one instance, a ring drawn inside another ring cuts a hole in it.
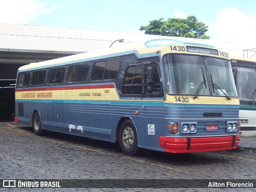
[[[130,156],[238,145],[229,55],[195,42],[150,39],[31,63],[19,68],[15,93],[15,121],[38,136],[119,142]]]

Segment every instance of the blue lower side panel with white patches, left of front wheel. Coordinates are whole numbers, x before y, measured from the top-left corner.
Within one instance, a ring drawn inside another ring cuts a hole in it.
[[[66,133],[114,142],[110,104],[96,102],[66,104]]]

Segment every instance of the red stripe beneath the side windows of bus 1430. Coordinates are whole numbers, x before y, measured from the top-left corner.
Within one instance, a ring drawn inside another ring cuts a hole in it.
[[[15,91],[16,92],[21,92],[21,91],[51,91],[51,90],[104,89],[104,88],[114,88],[114,84],[16,89]]]

